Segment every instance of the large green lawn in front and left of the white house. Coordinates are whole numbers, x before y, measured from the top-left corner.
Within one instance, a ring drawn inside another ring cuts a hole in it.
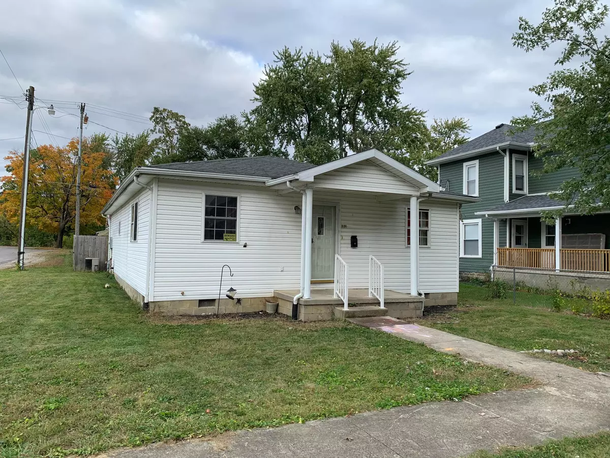
[[[109,275],[67,264],[0,271],[0,366],[2,457],[95,453],[529,382],[340,321],[167,322]]]

